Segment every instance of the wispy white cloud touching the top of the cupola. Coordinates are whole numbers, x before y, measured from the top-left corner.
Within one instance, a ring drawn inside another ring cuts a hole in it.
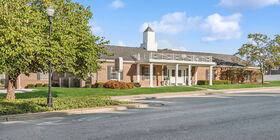
[[[140,32],[143,32],[150,25],[155,32],[166,34],[177,34],[189,29],[193,23],[199,21],[200,17],[187,17],[186,12],[169,13],[160,21],[145,22]]]

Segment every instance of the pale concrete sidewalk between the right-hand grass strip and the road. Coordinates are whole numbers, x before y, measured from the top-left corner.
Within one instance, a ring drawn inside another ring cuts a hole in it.
[[[143,100],[143,99],[191,97],[191,96],[217,95],[217,94],[237,93],[237,92],[256,92],[256,91],[266,91],[266,90],[279,90],[280,92],[280,87],[242,88],[242,89],[225,89],[225,90],[205,89],[201,91],[191,91],[191,92],[112,96],[111,98],[113,100],[118,100],[118,101],[133,102],[135,100]]]

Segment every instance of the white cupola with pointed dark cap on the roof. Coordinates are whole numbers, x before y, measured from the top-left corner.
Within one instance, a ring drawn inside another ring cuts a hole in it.
[[[143,33],[143,43],[141,47],[147,51],[157,51],[157,43],[155,41],[155,32],[150,26]]]

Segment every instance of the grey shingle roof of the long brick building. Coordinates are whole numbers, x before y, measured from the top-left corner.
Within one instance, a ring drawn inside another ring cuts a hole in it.
[[[123,46],[104,46],[106,51],[112,53],[113,56],[102,55],[101,59],[115,59],[117,57],[122,57],[126,61],[135,61],[133,55],[135,54],[148,54],[149,51],[140,47],[123,47]],[[203,53],[203,52],[188,52],[188,51],[174,51],[159,49],[158,53],[175,53],[175,54],[186,54],[186,55],[199,55],[199,56],[212,56],[213,61],[220,66],[246,66],[246,62],[234,55],[228,54],[215,54],[215,53]]]

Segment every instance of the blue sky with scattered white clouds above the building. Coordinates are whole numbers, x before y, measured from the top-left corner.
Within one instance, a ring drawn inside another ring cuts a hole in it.
[[[73,0],[90,6],[95,35],[139,47],[150,25],[159,48],[234,54],[249,33],[280,32],[280,0]]]

